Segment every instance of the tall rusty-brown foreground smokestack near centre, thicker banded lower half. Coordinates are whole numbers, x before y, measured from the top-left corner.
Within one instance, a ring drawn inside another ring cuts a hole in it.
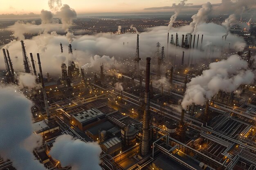
[[[141,143],[141,155],[145,156],[149,151],[149,142],[150,142],[150,130],[149,130],[149,121],[150,121],[150,111],[149,111],[149,86],[150,86],[150,57],[146,58],[146,89],[145,89],[145,109],[143,115],[143,128],[142,128],[142,143]]]

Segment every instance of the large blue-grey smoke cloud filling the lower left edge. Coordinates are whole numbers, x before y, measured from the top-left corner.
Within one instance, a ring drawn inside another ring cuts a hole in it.
[[[46,170],[33,155],[41,138],[32,133],[32,102],[15,88],[0,88],[0,153],[17,170]]]

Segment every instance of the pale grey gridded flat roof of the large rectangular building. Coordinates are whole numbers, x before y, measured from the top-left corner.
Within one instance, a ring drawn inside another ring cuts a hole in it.
[[[94,119],[100,116],[103,116],[104,113],[99,111],[98,109],[92,108],[90,110],[82,111],[80,113],[76,113],[73,117],[78,120],[80,123],[85,121],[89,121],[90,119]]]

